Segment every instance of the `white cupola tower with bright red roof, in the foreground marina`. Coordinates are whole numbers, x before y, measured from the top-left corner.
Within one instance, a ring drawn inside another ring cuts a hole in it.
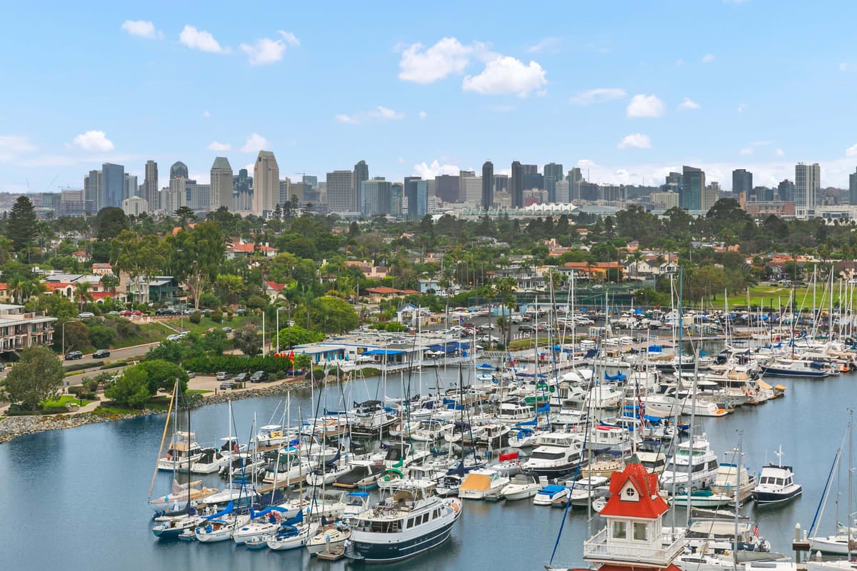
[[[673,560],[684,541],[663,532],[668,509],[657,475],[632,459],[610,477],[610,499],[601,511],[607,526],[584,543],[584,560],[599,563],[598,571],[679,571]]]

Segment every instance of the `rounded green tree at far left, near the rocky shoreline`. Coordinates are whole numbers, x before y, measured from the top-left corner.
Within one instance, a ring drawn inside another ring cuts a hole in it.
[[[21,351],[6,377],[5,396],[35,411],[40,401],[56,398],[63,390],[63,362],[50,348],[30,345]]]

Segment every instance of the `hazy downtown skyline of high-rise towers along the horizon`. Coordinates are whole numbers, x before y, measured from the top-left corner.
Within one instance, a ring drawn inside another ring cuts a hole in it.
[[[190,178],[188,166],[178,161],[171,165],[166,185],[160,184],[159,164],[152,160],[145,164],[141,182],[123,165],[105,163],[101,170],[84,175],[81,189],[40,193],[34,202],[39,211],[59,215],[94,213],[106,206],[135,216],[171,214],[183,207],[198,213],[225,207],[270,217],[287,205],[312,205],[314,211],[347,218],[422,218],[438,211],[515,213],[532,205],[555,205],[558,211],[568,211],[570,205],[624,208],[638,204],[656,212],[678,207],[704,214],[718,199],[733,198],[754,216],[857,218],[857,172],[849,177],[847,194],[830,197],[822,193],[817,163],[796,164],[794,181],[784,180],[776,187],[754,186],[752,172],[736,169],[731,192],[718,181],[706,181],[704,170],[692,166],[670,172],[657,186],[599,184],[588,181],[589,174],[580,167],[566,171],[562,164],[548,163],[539,169],[537,164],[519,161],[508,169],[486,161],[481,171],[458,170],[457,175],[425,179],[406,176],[402,181],[370,176],[369,164],[358,161],[351,169],[333,170],[320,178],[305,173],[295,181],[282,177],[270,151],[258,153],[252,172],[235,173],[228,158],[216,157],[208,181]]]

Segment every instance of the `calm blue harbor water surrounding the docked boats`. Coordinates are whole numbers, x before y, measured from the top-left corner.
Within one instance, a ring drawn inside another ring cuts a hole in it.
[[[434,375],[429,376],[430,384],[434,384]],[[414,392],[416,383],[415,379]],[[345,401],[397,396],[398,384],[388,384],[387,390],[376,390],[374,382],[346,385]],[[423,386],[428,384],[427,376]],[[782,443],[783,461],[794,465],[795,478],[804,485],[803,497],[782,507],[746,507],[744,513],[754,514],[774,550],[788,554],[794,523],[800,521],[807,528],[818,505],[848,422],[847,408],[854,404],[854,378],[783,379],[782,384],[788,386],[784,398],[757,408],[744,407],[722,419],[702,419],[701,425],[721,455],[734,448],[738,431],[743,431],[746,462],[756,471],[766,460],[776,460],[772,453]],[[340,406],[339,390],[330,389],[327,407]],[[249,436],[254,412],[259,423],[266,424],[271,419],[279,421],[283,407],[280,398],[234,403],[239,437],[245,440]],[[298,408],[303,416],[309,416],[309,391],[293,396],[293,421]],[[152,512],[146,500],[163,428],[163,416],[148,417],[43,432],[0,445],[0,568],[261,571],[369,567],[355,562],[319,562],[310,559],[305,550],[249,551],[232,542],[159,543],[150,531]],[[215,405],[195,411],[192,429],[201,443],[227,436],[227,407]],[[219,483],[216,476],[207,480]],[[170,475],[159,473],[155,494],[165,493],[169,481]],[[826,509],[824,534],[833,532],[837,516],[839,520],[847,518],[844,491],[838,514],[835,499],[830,497]],[[683,514],[676,520],[679,525]],[[423,556],[383,567],[541,569],[553,549],[561,520],[560,509],[536,508],[528,502],[466,503],[450,542]],[[587,522],[584,513],[569,514],[554,562],[579,565],[584,539],[602,523],[597,519]]]

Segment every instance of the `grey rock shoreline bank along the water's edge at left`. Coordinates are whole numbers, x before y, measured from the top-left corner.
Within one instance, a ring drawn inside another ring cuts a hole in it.
[[[335,377],[324,379],[324,383],[336,382]],[[316,381],[316,383],[319,383]],[[210,404],[219,404],[226,401],[242,401],[244,399],[256,398],[258,396],[274,396],[288,393],[291,390],[309,389],[311,382],[308,379],[286,379],[278,384],[262,387],[254,387],[246,390],[224,390],[216,394],[207,394],[201,401],[195,404],[195,408],[205,407]],[[114,420],[133,419],[137,416],[147,414],[163,414],[163,410],[143,409],[137,413],[108,414],[108,413],[65,413],[51,415],[33,416],[9,416],[0,419],[0,444],[8,443],[16,437],[37,432],[66,430],[77,426],[94,425],[99,422],[111,422]]]

